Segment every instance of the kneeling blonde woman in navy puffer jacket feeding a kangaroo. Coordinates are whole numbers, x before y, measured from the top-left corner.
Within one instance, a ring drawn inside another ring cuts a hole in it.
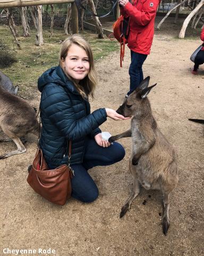
[[[72,35],[63,42],[60,65],[38,79],[43,125],[39,146],[49,168],[54,169],[67,163],[67,148],[72,141],[72,197],[82,202],[98,197],[98,188],[88,170],[114,164],[125,155],[119,143],[110,145],[102,139],[99,125],[107,116],[114,120],[128,118],[109,108],[99,108],[90,114],[88,98],[93,97],[96,84],[92,51],[80,35]]]

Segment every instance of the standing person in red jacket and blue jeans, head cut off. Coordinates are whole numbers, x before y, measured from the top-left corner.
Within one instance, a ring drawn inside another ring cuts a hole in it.
[[[154,23],[159,0],[118,0],[121,14],[129,17],[128,47],[131,50],[131,64],[129,68],[130,90],[128,97],[143,81],[142,65],[150,53],[154,37]]]

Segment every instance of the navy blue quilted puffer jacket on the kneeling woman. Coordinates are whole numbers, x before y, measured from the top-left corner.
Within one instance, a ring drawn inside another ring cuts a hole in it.
[[[50,168],[67,163],[67,141],[72,141],[71,164],[83,161],[86,138],[100,133],[99,125],[106,121],[106,110],[90,114],[90,104],[84,100],[60,66],[47,70],[38,79],[41,92],[40,110],[43,129],[40,148]]]

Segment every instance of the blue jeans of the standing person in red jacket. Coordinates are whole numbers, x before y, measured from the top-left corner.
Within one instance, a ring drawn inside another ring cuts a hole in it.
[[[147,54],[141,54],[131,51],[131,64],[129,68],[130,75],[130,95],[143,81],[142,65],[147,59]]]

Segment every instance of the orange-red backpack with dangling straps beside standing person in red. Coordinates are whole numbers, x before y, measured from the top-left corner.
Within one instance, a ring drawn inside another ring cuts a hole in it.
[[[122,61],[125,54],[125,44],[127,43],[127,38],[129,35],[130,18],[124,18],[121,15],[113,24],[113,35],[117,41],[121,44],[121,54],[120,54],[120,65],[122,67]]]

